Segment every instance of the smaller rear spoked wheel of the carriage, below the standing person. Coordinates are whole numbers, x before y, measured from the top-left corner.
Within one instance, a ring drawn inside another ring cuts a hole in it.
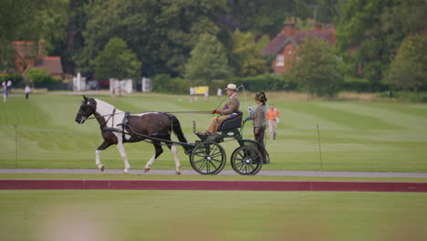
[[[263,155],[253,146],[241,146],[233,152],[231,163],[235,173],[255,175],[263,167]]]

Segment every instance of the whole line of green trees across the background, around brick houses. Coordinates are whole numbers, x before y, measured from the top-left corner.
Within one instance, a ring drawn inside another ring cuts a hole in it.
[[[14,72],[12,41],[43,39],[65,72],[96,79],[158,77],[182,89],[189,81],[251,81],[254,88],[268,82],[270,89],[321,96],[353,83],[369,91],[426,88],[423,0],[0,2],[3,72]],[[277,77],[261,49],[292,17],[298,27],[334,23],[337,43],[307,39],[297,47],[294,68]]]

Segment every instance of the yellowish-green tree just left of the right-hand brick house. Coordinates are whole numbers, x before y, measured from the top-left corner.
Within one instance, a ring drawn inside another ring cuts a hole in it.
[[[238,76],[256,76],[268,72],[266,58],[262,56],[255,37],[250,32],[244,34],[238,29],[235,30],[233,53]]]

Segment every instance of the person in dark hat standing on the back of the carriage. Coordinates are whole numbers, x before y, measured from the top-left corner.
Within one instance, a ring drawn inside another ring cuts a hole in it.
[[[254,114],[254,137],[255,141],[260,143],[261,146],[264,144],[264,135],[266,132],[266,93],[256,93],[255,95],[255,114]],[[258,148],[258,151],[261,152],[263,158],[266,159],[266,153],[264,149]]]

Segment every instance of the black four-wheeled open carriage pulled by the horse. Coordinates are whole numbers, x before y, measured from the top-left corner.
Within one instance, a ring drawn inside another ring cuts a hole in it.
[[[255,175],[263,164],[270,162],[264,146],[256,141],[243,139],[245,121],[242,122],[242,118],[243,112],[238,112],[234,117],[220,123],[217,134],[208,136],[196,132],[196,124],[193,121],[193,132],[201,139],[195,141],[193,152],[189,153],[194,171],[201,174],[220,173],[224,169],[226,154],[219,143],[226,139],[236,140],[239,143],[230,159],[235,173]]]

